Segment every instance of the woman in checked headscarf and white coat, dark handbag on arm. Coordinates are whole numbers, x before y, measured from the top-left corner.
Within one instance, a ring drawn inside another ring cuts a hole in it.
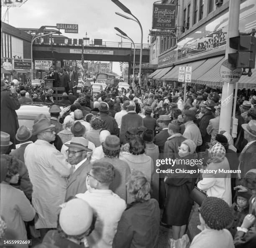
[[[205,173],[202,173],[202,180],[197,183],[197,187],[206,191],[208,196],[221,198],[231,206],[231,174],[226,171],[230,170],[230,166],[225,155],[226,150],[223,145],[216,143],[212,146],[209,150],[210,163]]]

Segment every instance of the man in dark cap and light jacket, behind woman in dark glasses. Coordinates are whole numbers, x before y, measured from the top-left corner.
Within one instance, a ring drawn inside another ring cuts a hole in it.
[[[185,131],[183,133],[183,137],[187,138],[188,140],[193,140],[197,146],[202,145],[202,136],[200,133],[200,129],[194,123],[196,120],[196,113],[193,110],[184,110],[184,124],[185,124]]]

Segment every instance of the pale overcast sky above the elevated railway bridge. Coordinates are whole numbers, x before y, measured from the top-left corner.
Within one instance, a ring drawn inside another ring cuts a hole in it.
[[[155,0],[120,0],[141,22],[143,43],[147,44],[152,24],[152,10]],[[6,8],[2,8],[2,18]],[[78,24],[78,34],[61,33],[69,38],[102,39],[120,42],[114,27],[123,30],[134,43],[141,43],[139,25],[115,14],[127,15],[111,0],[28,0],[21,7],[9,9],[9,24],[15,28],[40,28],[43,25],[55,26],[56,23]],[[123,40],[123,42],[128,40]],[[118,74],[117,64],[113,66]]]

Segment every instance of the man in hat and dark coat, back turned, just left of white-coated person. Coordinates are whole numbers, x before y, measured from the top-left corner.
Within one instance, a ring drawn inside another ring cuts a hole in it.
[[[108,103],[100,103],[100,119],[103,120],[103,128],[110,130],[112,135],[119,136],[118,124],[115,121],[115,118],[108,115],[109,107]]]

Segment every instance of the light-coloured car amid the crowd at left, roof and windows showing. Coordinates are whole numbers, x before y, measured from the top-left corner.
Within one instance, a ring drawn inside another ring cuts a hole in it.
[[[49,108],[51,105],[52,104],[46,103],[26,103],[21,105],[20,108],[16,110],[19,126],[24,125],[29,130],[32,130],[34,120],[36,120],[36,117],[39,114],[45,114],[48,118],[51,117],[49,113]],[[58,105],[61,108],[60,117],[70,109],[70,105]]]

